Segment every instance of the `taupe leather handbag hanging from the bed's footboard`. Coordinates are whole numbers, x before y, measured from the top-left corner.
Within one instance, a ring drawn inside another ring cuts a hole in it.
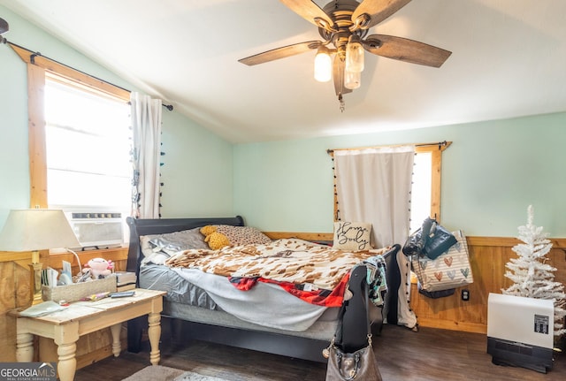
[[[368,294],[367,286],[364,285],[364,306],[366,313],[368,312]],[[343,307],[342,307],[343,309]],[[351,381],[351,380],[367,380],[367,381],[382,381],[381,373],[379,373],[378,363],[373,354],[373,347],[371,347],[371,326],[369,316],[367,318],[368,324],[368,345],[362,349],[358,349],[353,353],[346,353],[339,347],[334,345],[334,340],[338,335],[341,335],[342,317],[340,320],[336,334],[330,346],[323,351],[323,355],[328,357],[328,365],[326,367],[326,381]]]

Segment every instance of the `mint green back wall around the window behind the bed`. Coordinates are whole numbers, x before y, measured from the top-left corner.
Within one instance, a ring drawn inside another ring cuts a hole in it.
[[[348,111],[347,111],[348,112]],[[333,171],[326,149],[453,141],[443,154],[443,225],[516,236],[534,224],[566,237],[566,113],[234,148],[234,208],[266,231],[332,232]]]

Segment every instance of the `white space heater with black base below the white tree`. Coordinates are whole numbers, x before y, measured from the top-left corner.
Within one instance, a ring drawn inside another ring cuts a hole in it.
[[[552,369],[553,301],[490,293],[487,300],[487,353],[496,365],[547,373]]]

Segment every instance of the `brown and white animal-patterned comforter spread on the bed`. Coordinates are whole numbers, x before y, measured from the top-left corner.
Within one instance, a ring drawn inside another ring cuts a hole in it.
[[[356,264],[371,256],[384,255],[390,249],[353,252],[306,240],[282,239],[219,250],[189,249],[173,255],[165,264],[229,278],[261,278],[307,285],[309,290],[334,290]]]

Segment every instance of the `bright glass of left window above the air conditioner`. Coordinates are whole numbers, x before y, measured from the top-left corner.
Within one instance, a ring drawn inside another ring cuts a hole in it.
[[[45,82],[47,201],[69,211],[130,209],[130,107],[108,95]]]

